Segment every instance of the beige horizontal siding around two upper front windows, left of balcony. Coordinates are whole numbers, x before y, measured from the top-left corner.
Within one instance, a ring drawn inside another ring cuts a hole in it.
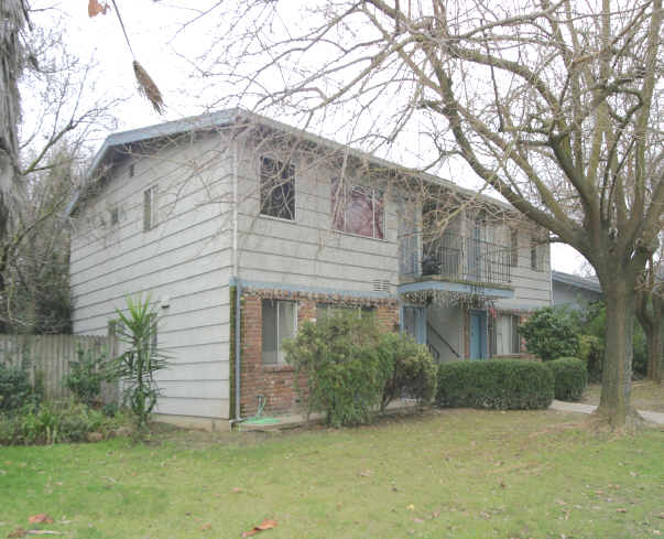
[[[240,147],[239,230],[240,277],[275,282],[373,293],[373,281],[387,281],[395,293],[398,279],[398,216],[390,186],[384,190],[384,239],[331,229],[331,179],[338,171],[326,162],[308,162],[297,153],[295,220],[259,215],[259,162],[265,149]],[[352,183],[362,184],[357,177]],[[375,185],[372,185],[375,186]]]

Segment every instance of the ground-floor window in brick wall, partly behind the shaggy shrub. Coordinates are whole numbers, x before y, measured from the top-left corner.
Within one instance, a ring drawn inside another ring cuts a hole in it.
[[[297,331],[297,302],[263,300],[262,311],[263,365],[283,365],[282,342]]]

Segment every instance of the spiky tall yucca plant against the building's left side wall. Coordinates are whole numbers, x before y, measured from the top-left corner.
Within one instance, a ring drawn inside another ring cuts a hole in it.
[[[166,356],[157,346],[159,315],[150,298],[127,298],[127,312],[116,309],[116,335],[126,351],[115,359],[118,377],[122,380],[124,399],[142,431],[156,405],[157,370],[167,367]]]

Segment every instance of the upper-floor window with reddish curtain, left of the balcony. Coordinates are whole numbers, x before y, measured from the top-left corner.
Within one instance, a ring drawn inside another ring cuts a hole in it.
[[[345,185],[339,179],[331,183],[333,228],[345,233],[385,238],[383,193],[362,185]]]

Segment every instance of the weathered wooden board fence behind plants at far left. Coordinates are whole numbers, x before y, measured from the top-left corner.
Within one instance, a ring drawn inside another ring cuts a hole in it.
[[[0,334],[0,363],[24,365],[33,382],[35,377],[41,377],[48,400],[70,397],[63,377],[69,373],[69,362],[78,359],[79,349],[85,354],[113,354],[116,344],[104,336]],[[118,392],[118,384],[102,384],[101,400],[117,402]]]

